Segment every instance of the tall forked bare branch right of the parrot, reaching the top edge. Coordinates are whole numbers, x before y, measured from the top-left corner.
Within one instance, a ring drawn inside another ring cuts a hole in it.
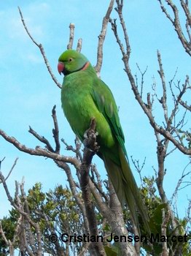
[[[147,104],[144,103],[143,99],[141,98],[141,94],[139,93],[139,90],[136,86],[136,82],[133,78],[133,75],[130,71],[130,67],[129,67],[129,63],[128,60],[130,58],[130,44],[129,44],[129,39],[128,39],[128,35],[127,35],[127,29],[125,28],[125,21],[122,18],[122,1],[117,1],[117,13],[119,15],[120,18],[120,23],[122,25],[122,31],[123,34],[126,38],[125,40],[125,44],[126,44],[126,51],[122,45],[122,42],[120,41],[120,38],[117,34],[117,24],[116,24],[116,20],[111,20],[112,23],[112,30],[114,31],[114,36],[117,39],[117,43],[120,46],[120,50],[122,52],[122,60],[125,64],[125,72],[127,72],[128,78],[130,80],[130,84],[131,84],[131,88],[133,90],[133,93],[136,97],[136,100],[139,102],[139,105],[141,105],[141,108],[144,110],[144,113],[147,114],[148,118],[149,118],[149,122],[152,125],[152,127],[155,130],[155,136],[157,138],[157,159],[158,159],[158,176],[157,176],[157,187],[160,193],[160,197],[162,198],[163,202],[168,203],[168,199],[165,195],[165,191],[163,189],[163,178],[165,175],[165,167],[164,167],[164,160],[165,160],[165,155],[166,155],[166,150],[168,147],[168,140],[171,140],[174,145],[179,148],[179,150],[183,151],[184,154],[191,154],[190,148],[186,148],[184,146],[182,146],[182,143],[179,143],[172,135],[171,132],[169,132],[166,129],[163,129],[163,127],[159,127],[156,122],[155,122],[155,118],[152,115],[152,105],[150,102],[150,98],[149,95],[147,95],[147,102],[149,103],[149,108],[147,106]],[[164,97],[164,103],[163,106],[165,107],[165,118],[166,121],[168,121],[168,113],[167,113],[167,109],[166,109],[166,93],[165,93],[165,80],[164,80],[164,75],[163,75],[163,68],[162,68],[162,62],[160,61],[160,55],[158,54],[158,59],[159,59],[159,64],[160,64],[160,77],[163,79],[163,97]],[[171,115],[172,116],[172,115]],[[164,137],[166,138],[165,140],[161,140],[160,135],[164,135]],[[163,143],[164,142],[164,143]],[[169,206],[169,204],[168,204]],[[169,206],[169,210],[171,209],[171,207]],[[174,222],[174,215],[171,214],[172,217],[172,225],[173,227],[176,227],[176,223]]]

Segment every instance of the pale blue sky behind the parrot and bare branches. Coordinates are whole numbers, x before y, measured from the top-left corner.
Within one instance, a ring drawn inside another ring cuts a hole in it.
[[[20,6],[33,37],[44,46],[52,71],[62,83],[63,78],[58,75],[57,63],[60,54],[66,50],[69,23],[75,23],[76,26],[74,47],[77,45],[77,39],[82,37],[82,53],[92,64],[95,64],[98,34],[108,4],[108,0],[86,0],[83,4],[79,0],[1,1],[0,128],[8,135],[14,136],[26,146],[35,147],[39,143],[28,133],[28,125],[31,125],[36,132],[53,143],[51,110],[53,105],[56,105],[61,138],[65,138],[69,144],[74,141],[74,134],[61,110],[61,91],[50,78],[39,49],[23,29],[17,6]],[[157,80],[157,90],[161,92],[157,74],[157,49],[160,50],[163,59],[166,80],[171,80],[178,67],[176,78],[183,83],[185,75],[190,75],[190,59],[177,39],[171,23],[160,11],[157,0],[128,1],[124,7],[124,17],[132,49],[130,56],[132,72],[139,73],[136,63],[142,70],[148,66],[144,92],[150,91],[153,76]],[[112,12],[112,18],[117,18],[115,11]],[[118,27],[120,29],[120,25]],[[104,43],[101,78],[112,89],[117,105],[120,106],[120,120],[129,156],[133,155],[133,158],[140,161],[147,157],[142,175],[152,176],[154,174],[152,166],[157,168],[155,136],[130,89],[128,78],[123,71],[120,50],[110,26]],[[158,104],[155,105],[155,116],[157,120],[162,116]],[[15,170],[7,181],[12,195],[15,180],[21,181],[23,176],[25,176],[26,190],[35,182],[42,182],[44,191],[54,188],[57,184],[66,184],[65,174],[50,159],[23,154],[2,138],[0,138],[0,149],[0,159],[6,157],[1,165],[1,171],[5,176],[15,158],[19,157]],[[62,153],[69,154],[67,151]],[[105,178],[104,165],[97,157],[94,161],[102,177]],[[179,154],[179,151],[171,154],[166,161],[167,173],[164,186],[169,199],[187,162],[187,157]],[[136,171],[133,170],[133,173],[139,183]],[[187,196],[190,196],[189,189],[179,193],[178,206],[182,217],[187,207]],[[1,185],[0,209],[0,217],[7,214],[9,209]]]

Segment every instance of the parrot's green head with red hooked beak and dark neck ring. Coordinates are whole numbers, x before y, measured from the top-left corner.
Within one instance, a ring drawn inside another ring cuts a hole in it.
[[[58,72],[63,75],[69,75],[73,72],[86,69],[90,62],[77,50],[66,50],[58,59]]]

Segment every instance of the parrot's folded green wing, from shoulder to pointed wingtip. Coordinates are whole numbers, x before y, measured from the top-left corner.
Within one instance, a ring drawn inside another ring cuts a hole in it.
[[[120,125],[120,118],[118,116],[117,105],[115,104],[112,91],[102,80],[96,80],[93,83],[93,92],[92,97],[97,106],[98,110],[103,113],[106,121],[108,121],[112,132],[117,141],[122,147],[122,151],[125,156],[128,158],[127,151],[125,149],[125,138],[122,132],[122,127]]]

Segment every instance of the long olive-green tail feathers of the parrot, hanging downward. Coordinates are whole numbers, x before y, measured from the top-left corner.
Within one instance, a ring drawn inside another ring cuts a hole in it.
[[[118,152],[120,157],[120,165],[117,165],[107,154],[104,154],[104,163],[107,173],[112,181],[114,190],[117,193],[120,203],[122,206],[125,202],[127,203],[130,214],[133,218],[133,222],[135,223],[137,229],[139,230],[139,220],[136,214],[136,208],[138,208],[139,213],[141,214],[145,228],[147,229],[148,233],[150,233],[148,224],[149,217],[147,215],[147,210],[142,201],[139,189],[136,185],[135,178],[133,177],[133,173],[130,170],[128,161],[122,151],[122,148],[119,147]]]

